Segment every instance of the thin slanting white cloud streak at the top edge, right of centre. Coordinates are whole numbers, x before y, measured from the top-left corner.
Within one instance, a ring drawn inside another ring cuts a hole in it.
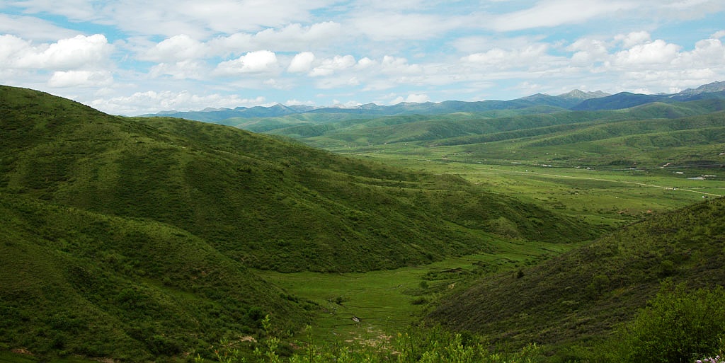
[[[495,17],[490,26],[494,30],[505,32],[579,24],[634,7],[637,7],[635,1],[542,0],[529,9]]]

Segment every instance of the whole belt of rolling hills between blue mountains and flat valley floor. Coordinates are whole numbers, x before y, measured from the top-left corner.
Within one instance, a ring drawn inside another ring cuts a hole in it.
[[[273,133],[344,154],[381,152],[389,159],[602,169],[665,164],[712,168],[725,165],[724,110],[723,99],[701,99],[490,118],[481,114],[383,117]]]

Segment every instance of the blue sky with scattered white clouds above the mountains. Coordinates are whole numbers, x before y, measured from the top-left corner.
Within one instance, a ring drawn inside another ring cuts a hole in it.
[[[0,84],[110,114],[725,80],[725,0],[0,0]]]

